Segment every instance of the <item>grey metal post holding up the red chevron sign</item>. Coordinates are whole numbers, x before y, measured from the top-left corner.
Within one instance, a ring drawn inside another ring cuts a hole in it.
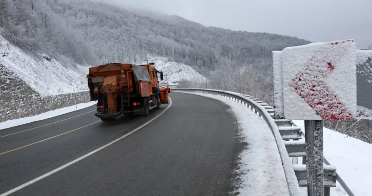
[[[324,195],[323,121],[305,120],[307,195]]]

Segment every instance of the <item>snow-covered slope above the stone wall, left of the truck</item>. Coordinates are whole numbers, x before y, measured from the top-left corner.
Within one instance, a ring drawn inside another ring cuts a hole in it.
[[[0,36],[0,63],[42,96],[87,91],[87,66],[45,54],[35,57]]]

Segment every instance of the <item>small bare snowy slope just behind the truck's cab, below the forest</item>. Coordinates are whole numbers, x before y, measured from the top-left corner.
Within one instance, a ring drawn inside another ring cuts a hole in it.
[[[161,84],[177,85],[182,79],[193,80],[199,83],[205,81],[205,77],[199,74],[196,70],[190,66],[170,61],[169,58],[154,57],[149,62],[155,63],[155,68],[162,71],[164,74],[164,80]],[[146,64],[146,61],[141,64]]]

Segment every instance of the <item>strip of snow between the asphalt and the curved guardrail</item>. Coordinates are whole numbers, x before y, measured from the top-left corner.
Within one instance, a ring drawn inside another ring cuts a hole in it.
[[[278,148],[266,122],[232,100],[201,93],[190,94],[229,105],[237,118],[241,138],[249,145],[240,154],[241,163],[236,172],[241,173],[241,181],[236,191],[240,195],[289,195]]]

